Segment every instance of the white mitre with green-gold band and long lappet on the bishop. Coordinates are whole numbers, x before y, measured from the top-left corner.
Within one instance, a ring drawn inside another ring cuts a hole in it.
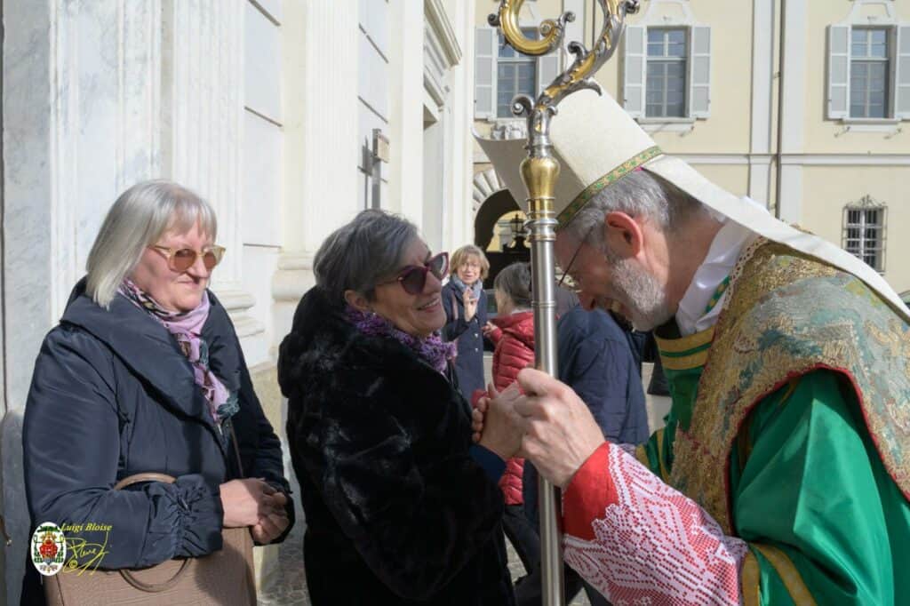
[[[512,197],[528,211],[528,193],[519,167],[527,157],[524,139],[478,143]],[[910,310],[873,268],[821,237],[795,229],[741,197],[717,187],[677,157],[664,154],[642,127],[611,96],[582,90],[566,97],[550,126],[553,157],[560,162],[554,207],[560,225],[567,225],[597,192],[637,167],[660,175],[703,204],[760,236],[841,268],[862,279],[907,321]]]

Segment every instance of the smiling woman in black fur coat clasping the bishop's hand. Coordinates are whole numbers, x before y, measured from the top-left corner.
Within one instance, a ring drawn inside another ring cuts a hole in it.
[[[447,268],[409,221],[365,210],[319,248],[281,343],[316,606],[514,603],[495,453],[517,444],[471,447],[439,334]]]

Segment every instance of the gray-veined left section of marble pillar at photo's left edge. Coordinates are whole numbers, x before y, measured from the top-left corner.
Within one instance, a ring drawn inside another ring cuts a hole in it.
[[[85,273],[106,210],[160,170],[160,0],[6,0],[0,435],[5,603],[19,603],[28,512],[22,415],[41,341]]]

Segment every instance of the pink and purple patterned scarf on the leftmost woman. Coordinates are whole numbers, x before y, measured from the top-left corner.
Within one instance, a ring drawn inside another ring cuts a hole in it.
[[[118,288],[120,294],[157,319],[167,332],[177,339],[177,345],[193,367],[193,379],[206,396],[209,412],[217,424],[237,411],[237,397],[208,369],[208,344],[202,338],[202,327],[208,318],[208,292],[203,291],[202,301],[190,311],[167,311],[154,298],[137,287],[129,278]]]

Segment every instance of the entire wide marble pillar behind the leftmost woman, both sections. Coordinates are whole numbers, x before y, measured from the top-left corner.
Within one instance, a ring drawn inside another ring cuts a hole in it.
[[[66,307],[107,209],[126,187],[177,180],[216,207],[228,248],[213,287],[248,347],[242,240],[243,0],[5,0],[0,431],[5,603],[28,544],[21,425],[35,356]],[[263,350],[268,347],[263,345]],[[3,600],[0,600],[3,601]]]

